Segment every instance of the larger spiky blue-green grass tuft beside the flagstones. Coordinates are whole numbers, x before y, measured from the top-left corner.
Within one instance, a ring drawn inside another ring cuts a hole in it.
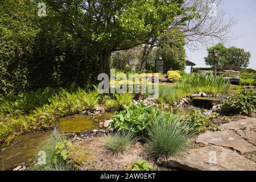
[[[148,146],[155,155],[175,155],[183,150],[190,136],[188,125],[181,125],[179,115],[161,112],[148,127]]]

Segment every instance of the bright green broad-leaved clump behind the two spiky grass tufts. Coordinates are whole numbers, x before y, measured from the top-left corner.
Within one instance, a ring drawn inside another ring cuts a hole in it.
[[[156,109],[146,106],[142,102],[126,107],[125,110],[115,113],[110,127],[121,131],[130,131],[137,135],[145,135],[146,128],[150,125],[150,118]]]

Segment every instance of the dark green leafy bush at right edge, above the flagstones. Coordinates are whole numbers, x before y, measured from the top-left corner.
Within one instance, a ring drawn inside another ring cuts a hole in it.
[[[228,100],[224,100],[221,110],[224,113],[251,114],[256,111],[255,90],[242,90],[233,94]]]

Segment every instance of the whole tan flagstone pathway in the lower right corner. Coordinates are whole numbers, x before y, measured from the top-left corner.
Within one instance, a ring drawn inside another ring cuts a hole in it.
[[[183,155],[159,163],[185,170],[255,171],[256,118],[225,123],[220,127],[221,131],[208,131],[197,137],[196,142],[203,147],[192,148]]]

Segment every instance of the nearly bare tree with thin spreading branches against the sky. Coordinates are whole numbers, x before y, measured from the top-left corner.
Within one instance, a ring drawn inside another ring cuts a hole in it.
[[[186,39],[189,49],[197,49],[200,45],[209,46],[214,42],[225,42],[230,39],[230,28],[236,24],[233,18],[225,20],[225,12],[221,9],[222,0],[184,0],[181,9],[183,14],[176,16],[169,28],[179,28]],[[160,32],[162,33],[162,32]],[[148,53],[159,46],[159,34],[153,35],[151,41],[144,44],[141,70],[145,67]]]

